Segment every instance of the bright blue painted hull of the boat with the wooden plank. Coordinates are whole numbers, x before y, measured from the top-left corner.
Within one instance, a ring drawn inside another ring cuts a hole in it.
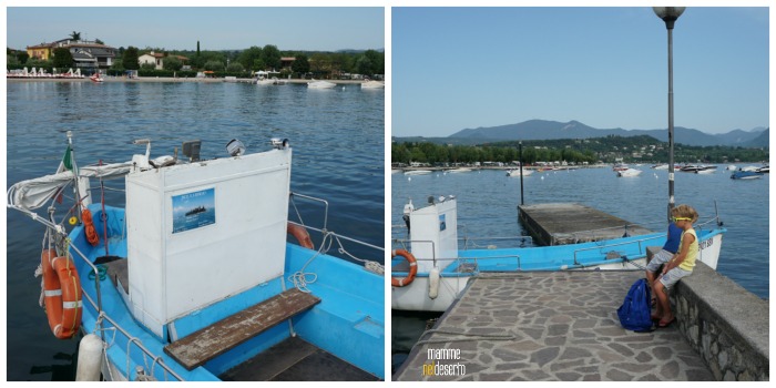
[[[102,238],[102,211],[99,205],[92,205],[90,208],[94,215],[95,229],[101,235],[101,244],[91,246],[85,241],[82,226],[75,227],[70,238],[73,257],[81,252],[93,263],[98,257],[104,256],[105,247]],[[123,224],[123,210],[106,206],[106,213],[111,225],[109,235],[114,233],[120,235],[121,229],[113,225]],[[122,257],[119,261],[126,261],[123,258],[126,257],[125,239],[109,238],[109,248],[111,256]],[[144,376],[152,376],[157,380],[219,380],[222,375],[267,351],[292,335],[358,367],[376,379],[385,378],[382,276],[368,272],[360,265],[318,254],[316,251],[290,243],[286,244],[285,254],[286,265],[283,276],[232,295],[190,316],[178,317],[165,326],[164,337],[144,328],[142,323],[133,317],[127,307],[126,292],[121,286],[114,286],[112,276],[98,278],[91,276],[90,279],[92,267],[83,259],[75,259],[84,293],[81,329],[84,334],[93,333],[102,336],[108,344],[104,350],[106,365],[103,366],[103,378],[137,380],[144,379]],[[312,257],[315,259],[310,261]],[[317,275],[315,283],[306,285],[313,295],[321,299],[321,303],[312,309],[258,334],[192,370],[186,370],[165,353],[164,347],[170,343],[167,338],[182,337],[197,327],[207,326],[232,315],[234,310],[239,312],[242,308],[268,299],[286,287],[294,287],[293,284],[287,284],[286,279],[300,268],[305,268],[307,274]],[[131,285],[129,289],[132,289]],[[102,306],[102,315],[98,304]],[[102,328],[96,329],[100,326]],[[149,354],[142,349],[146,349]],[[169,370],[165,370],[162,365]],[[139,367],[142,374],[139,374]]]

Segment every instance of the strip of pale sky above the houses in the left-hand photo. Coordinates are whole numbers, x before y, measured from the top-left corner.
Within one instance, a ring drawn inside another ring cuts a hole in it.
[[[385,10],[372,8],[19,8],[7,9],[8,47],[100,39],[120,48],[202,50],[274,44],[280,50],[385,48]]]

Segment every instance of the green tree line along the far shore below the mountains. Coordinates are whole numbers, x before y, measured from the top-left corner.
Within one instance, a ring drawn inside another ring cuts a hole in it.
[[[409,164],[512,163],[520,160],[520,143],[496,142],[479,145],[450,145],[412,141],[391,143],[391,162]],[[767,147],[688,146],[674,144],[675,163],[733,163],[767,161]],[[583,163],[667,163],[668,144],[652,136],[606,136],[596,139],[537,140],[522,142],[522,161]]]

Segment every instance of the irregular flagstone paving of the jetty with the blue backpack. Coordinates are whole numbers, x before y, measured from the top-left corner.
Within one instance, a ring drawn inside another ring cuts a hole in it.
[[[616,309],[641,277],[641,270],[480,276],[392,380],[714,380],[676,325],[645,334],[620,326]]]

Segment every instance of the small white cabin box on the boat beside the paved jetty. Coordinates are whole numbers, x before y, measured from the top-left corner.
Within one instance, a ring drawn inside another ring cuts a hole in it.
[[[458,214],[456,198],[446,198],[410,213],[412,255],[418,272],[428,273],[435,266],[442,269],[458,257]]]

